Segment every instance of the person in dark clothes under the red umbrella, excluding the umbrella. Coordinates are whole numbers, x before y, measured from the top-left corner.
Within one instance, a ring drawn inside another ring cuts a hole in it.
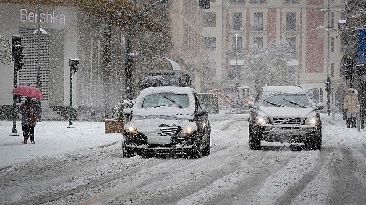
[[[37,125],[37,118],[40,117],[42,112],[41,106],[33,101],[31,97],[27,97],[27,100],[19,107],[19,113],[22,114],[22,131],[23,142],[27,144],[28,138],[34,142],[34,127]]]

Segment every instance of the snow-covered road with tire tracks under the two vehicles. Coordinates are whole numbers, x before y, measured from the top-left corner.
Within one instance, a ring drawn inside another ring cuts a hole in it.
[[[326,117],[324,117],[326,118]],[[123,158],[117,145],[0,171],[0,204],[364,204],[366,134],[323,119],[323,149],[248,146],[248,122],[211,119],[200,159]]]

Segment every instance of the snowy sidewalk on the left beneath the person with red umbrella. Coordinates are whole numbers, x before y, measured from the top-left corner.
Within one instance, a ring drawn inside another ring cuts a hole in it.
[[[19,136],[10,136],[12,121],[0,121],[0,169],[43,156],[54,156],[95,148],[122,140],[122,134],[105,134],[104,122],[74,122],[75,128],[67,128],[68,122],[43,121],[34,129],[35,144],[21,145],[21,122],[16,128]],[[29,140],[28,140],[29,141]]]

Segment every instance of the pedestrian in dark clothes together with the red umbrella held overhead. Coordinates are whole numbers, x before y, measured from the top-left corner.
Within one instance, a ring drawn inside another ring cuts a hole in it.
[[[11,93],[17,95],[23,95],[27,97],[27,100],[19,107],[19,113],[22,114],[22,131],[23,142],[27,144],[28,138],[33,144],[34,142],[34,127],[37,125],[37,118],[40,117],[42,108],[39,100],[33,101],[32,97],[43,98],[42,92],[32,86],[19,86],[16,87]]]

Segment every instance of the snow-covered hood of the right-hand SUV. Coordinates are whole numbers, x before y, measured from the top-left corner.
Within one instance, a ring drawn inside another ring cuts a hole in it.
[[[277,108],[277,107],[259,107],[257,110],[259,116],[265,117],[311,117],[315,116],[314,108]]]

